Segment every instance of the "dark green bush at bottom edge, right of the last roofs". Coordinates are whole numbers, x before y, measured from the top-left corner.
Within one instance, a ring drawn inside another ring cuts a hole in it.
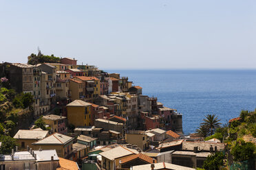
[[[220,166],[224,165],[224,154],[222,152],[217,152],[207,156],[204,160],[203,168],[207,170],[217,170],[220,169]]]

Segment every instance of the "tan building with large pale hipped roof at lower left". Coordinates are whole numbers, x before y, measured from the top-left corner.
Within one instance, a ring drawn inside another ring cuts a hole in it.
[[[46,138],[32,143],[33,149],[56,149],[61,158],[70,158],[73,153],[74,138],[64,134],[54,133]]]

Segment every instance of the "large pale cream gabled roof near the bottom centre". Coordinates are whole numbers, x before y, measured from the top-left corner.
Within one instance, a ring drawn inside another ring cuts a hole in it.
[[[115,147],[114,149],[110,149],[108,151],[103,151],[100,153],[101,156],[109,159],[109,160],[115,160],[116,158],[122,158],[124,156],[129,156],[131,154],[137,154],[133,151],[130,151],[129,149],[119,146]]]

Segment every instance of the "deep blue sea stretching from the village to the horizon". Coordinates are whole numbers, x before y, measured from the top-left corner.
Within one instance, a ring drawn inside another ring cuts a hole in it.
[[[129,77],[143,95],[183,114],[184,134],[195,132],[206,114],[222,123],[256,108],[256,70],[106,70]]]

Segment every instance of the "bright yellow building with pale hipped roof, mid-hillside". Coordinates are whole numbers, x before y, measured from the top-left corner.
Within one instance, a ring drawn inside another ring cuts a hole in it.
[[[74,125],[75,127],[91,125],[91,107],[92,104],[82,100],[75,100],[70,104],[67,104],[68,123]]]

